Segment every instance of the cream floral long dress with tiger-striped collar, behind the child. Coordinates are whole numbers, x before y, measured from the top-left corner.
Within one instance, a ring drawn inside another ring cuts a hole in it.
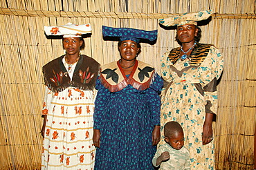
[[[205,113],[217,113],[217,79],[223,70],[223,57],[210,44],[196,44],[190,59],[181,61],[180,53],[180,47],[174,48],[161,60],[161,75],[169,83],[162,97],[162,139],[165,123],[179,122],[184,146],[190,151],[191,169],[214,169],[214,144],[203,146],[202,132]]]

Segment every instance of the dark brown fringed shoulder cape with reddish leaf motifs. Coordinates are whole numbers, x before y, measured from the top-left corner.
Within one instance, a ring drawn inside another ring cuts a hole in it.
[[[53,92],[63,91],[68,86],[80,88],[84,91],[92,91],[100,70],[100,64],[95,59],[81,55],[75,66],[73,79],[62,63],[64,55],[53,59],[43,66],[44,82]]]

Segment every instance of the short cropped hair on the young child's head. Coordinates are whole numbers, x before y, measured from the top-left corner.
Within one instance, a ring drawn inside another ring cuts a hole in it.
[[[183,132],[181,124],[175,121],[167,122],[164,127],[165,137],[172,138],[172,135],[177,132]]]

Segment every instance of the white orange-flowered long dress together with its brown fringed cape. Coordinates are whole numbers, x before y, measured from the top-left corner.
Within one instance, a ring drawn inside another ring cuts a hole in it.
[[[85,55],[69,68],[64,56],[43,67],[47,122],[42,169],[93,169],[93,88],[99,68]]]

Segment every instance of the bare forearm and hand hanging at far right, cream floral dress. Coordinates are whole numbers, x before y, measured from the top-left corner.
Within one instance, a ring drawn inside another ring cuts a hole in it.
[[[203,124],[202,141],[203,145],[212,142],[212,113],[206,113],[205,122]]]

